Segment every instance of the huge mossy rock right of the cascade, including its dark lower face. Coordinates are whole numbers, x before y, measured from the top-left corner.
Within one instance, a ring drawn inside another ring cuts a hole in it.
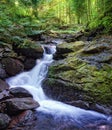
[[[49,68],[43,84],[45,93],[64,102],[81,100],[112,106],[111,42],[78,41],[60,44],[58,48],[68,48],[72,52],[62,53],[66,57]]]

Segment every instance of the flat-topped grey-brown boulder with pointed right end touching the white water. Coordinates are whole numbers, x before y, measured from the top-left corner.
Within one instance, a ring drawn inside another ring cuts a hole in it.
[[[30,97],[7,99],[2,102],[1,106],[2,105],[5,106],[5,112],[10,115],[16,115],[21,111],[39,107],[38,102],[34,101],[33,98]]]

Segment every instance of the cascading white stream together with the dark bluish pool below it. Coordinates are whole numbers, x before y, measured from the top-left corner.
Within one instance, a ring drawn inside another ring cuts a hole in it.
[[[46,51],[45,47],[49,51]],[[36,66],[32,70],[6,80],[11,88],[23,87],[28,90],[39,102],[40,107],[37,108],[40,116],[39,130],[110,130],[104,129],[104,126],[111,122],[108,116],[54,101],[44,94],[41,84],[46,77],[48,66],[53,62],[56,46],[45,45],[43,49],[43,58],[36,61]],[[47,122],[48,128],[43,126],[44,119],[41,118],[52,120]]]

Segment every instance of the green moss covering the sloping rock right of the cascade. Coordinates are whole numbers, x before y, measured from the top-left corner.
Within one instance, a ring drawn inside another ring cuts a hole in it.
[[[104,68],[98,69],[76,56],[69,57],[65,61],[65,65],[52,66],[49,76],[70,82],[74,89],[85,93],[83,99],[86,101],[112,105],[111,67],[105,65]]]

